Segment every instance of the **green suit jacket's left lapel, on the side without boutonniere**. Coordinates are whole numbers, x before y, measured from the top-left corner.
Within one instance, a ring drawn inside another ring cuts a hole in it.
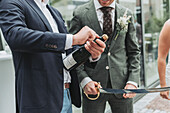
[[[94,31],[96,31],[96,33],[98,35],[102,35],[103,34],[103,31],[100,27],[100,24],[99,24],[99,21],[97,19],[97,14],[96,14],[96,9],[95,9],[95,6],[94,6],[94,2],[93,0],[91,0],[91,2],[89,2],[89,5],[87,7],[87,18],[88,18],[88,21],[89,21],[89,27],[92,27],[92,29]]]

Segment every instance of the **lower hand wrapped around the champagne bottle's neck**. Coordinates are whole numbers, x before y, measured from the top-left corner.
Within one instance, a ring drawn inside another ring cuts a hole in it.
[[[97,59],[104,52],[105,47],[105,43],[99,39],[97,39],[96,42],[87,41],[85,44],[85,48],[89,51],[89,53],[91,53],[92,59]]]

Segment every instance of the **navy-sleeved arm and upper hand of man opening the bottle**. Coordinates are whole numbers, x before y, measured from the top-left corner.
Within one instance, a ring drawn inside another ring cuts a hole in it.
[[[24,6],[25,4],[19,1],[4,2],[6,3],[3,6],[1,5],[0,9],[0,26],[12,51],[31,53],[65,51],[66,33],[43,32],[38,29],[30,29],[28,27],[30,23],[26,23],[28,19],[26,10],[28,9]],[[72,45],[84,44],[87,40],[94,40],[96,36],[94,31],[84,27],[73,36]]]

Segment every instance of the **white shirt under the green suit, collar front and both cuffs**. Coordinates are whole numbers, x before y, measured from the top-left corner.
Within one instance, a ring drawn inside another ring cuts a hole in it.
[[[100,24],[101,29],[103,29],[103,12],[100,10],[101,7],[103,7],[98,0],[94,0],[94,6],[96,9],[96,14],[97,14],[97,18]],[[116,6],[116,1],[113,1],[113,3],[111,3],[108,7],[112,7],[113,9],[111,10],[111,18],[112,18],[112,31],[114,31],[114,24],[115,24],[115,6]],[[90,77],[85,77],[80,85],[82,88],[84,88],[84,86],[89,83],[90,81],[92,81],[92,79]],[[138,86],[138,84],[136,82],[133,81],[128,81],[127,83],[129,84],[133,84],[136,87]]]

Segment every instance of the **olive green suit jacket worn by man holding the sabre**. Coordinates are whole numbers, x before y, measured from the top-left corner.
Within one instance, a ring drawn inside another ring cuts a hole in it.
[[[115,39],[119,32],[116,28],[117,19],[123,17],[126,10],[127,8],[116,3],[115,28],[112,40],[109,39],[106,42],[107,45],[110,41],[111,45],[105,49],[98,62],[90,63],[87,61],[77,68],[80,82],[85,77],[90,77],[92,80],[100,82],[103,88],[106,88],[108,77],[110,76],[111,86],[115,89],[123,89],[127,81],[139,84],[140,50],[133,15],[130,10],[127,11],[127,16],[132,16],[128,24],[128,30],[121,30],[117,39]],[[97,19],[93,0],[74,11],[69,32],[75,34],[84,26],[88,26],[98,35],[102,35],[103,31]]]

